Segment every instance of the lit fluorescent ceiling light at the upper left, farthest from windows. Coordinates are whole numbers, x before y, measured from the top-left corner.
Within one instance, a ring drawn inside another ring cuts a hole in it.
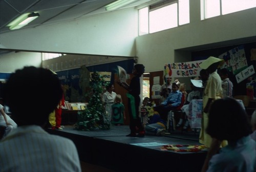
[[[34,19],[36,19],[39,16],[39,13],[26,13],[22,14],[16,19],[14,19],[11,23],[9,23],[7,26],[10,30],[20,29],[26,25],[28,25],[30,22],[32,22]]]

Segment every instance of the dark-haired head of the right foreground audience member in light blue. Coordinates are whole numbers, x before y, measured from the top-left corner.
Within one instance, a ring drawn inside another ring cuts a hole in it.
[[[252,133],[247,113],[236,99],[230,97],[211,104],[206,131],[212,138],[230,141]]]

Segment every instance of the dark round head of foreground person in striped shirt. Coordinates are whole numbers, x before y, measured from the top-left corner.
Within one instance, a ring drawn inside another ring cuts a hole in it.
[[[48,69],[25,67],[11,74],[5,100],[20,125],[44,125],[62,96],[60,81]]]

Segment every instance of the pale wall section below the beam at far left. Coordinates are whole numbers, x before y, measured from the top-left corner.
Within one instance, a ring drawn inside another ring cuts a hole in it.
[[[0,73],[12,73],[25,66],[41,67],[41,53],[11,52],[0,56]]]

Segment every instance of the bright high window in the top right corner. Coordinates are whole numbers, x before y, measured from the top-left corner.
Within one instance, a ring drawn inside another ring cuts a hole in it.
[[[201,0],[201,20],[256,7],[256,0]]]

